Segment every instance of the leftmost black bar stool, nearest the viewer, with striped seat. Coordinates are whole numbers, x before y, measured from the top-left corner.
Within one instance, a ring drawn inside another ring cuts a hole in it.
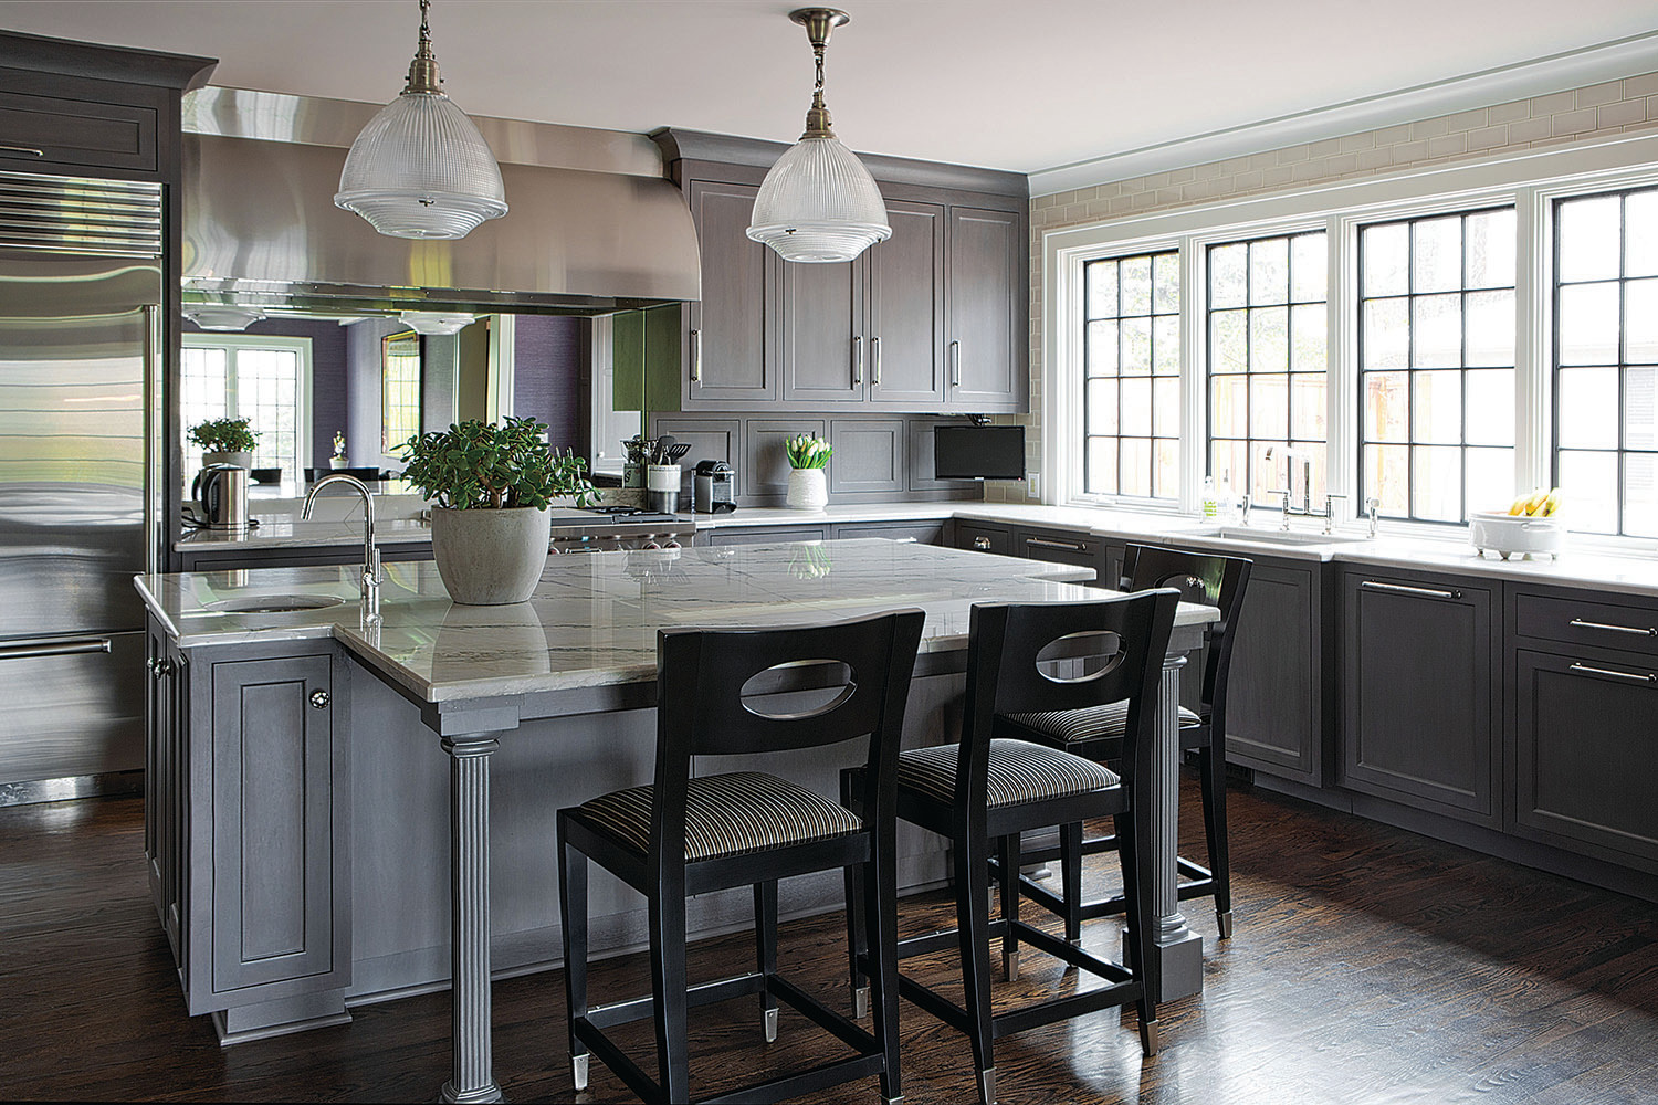
[[[686,1014],[758,994],[766,1040],[783,999],[846,1042],[854,1055],[706,1102],[768,1102],[880,1075],[899,1088],[897,755],[904,704],[924,615],[904,610],[821,626],[663,630],[657,636],[657,777],[559,810],[559,891],[564,977],[575,1088],[587,1087],[589,1049],[647,1102],[690,1102]],[[812,749],[869,737],[862,770],[872,800],[854,813],[806,787],[759,772],[691,777],[693,755]],[[587,860],[650,900],[653,992],[587,1002]],[[874,1034],[778,974],[778,880],[846,868],[875,933]],[[688,984],[685,900],[730,886],[754,888],[758,969]],[[604,1029],[653,1017],[658,1077],[647,1075]]]

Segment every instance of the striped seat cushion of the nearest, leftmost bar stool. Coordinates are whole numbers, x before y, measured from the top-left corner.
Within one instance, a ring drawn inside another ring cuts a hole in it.
[[[655,787],[613,790],[584,802],[575,817],[638,853],[650,852]],[[713,860],[844,837],[864,828],[841,803],[776,775],[733,772],[691,779],[685,795],[685,858]]]

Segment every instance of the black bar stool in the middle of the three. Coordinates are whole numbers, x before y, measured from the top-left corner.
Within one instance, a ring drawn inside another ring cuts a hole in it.
[[[1127,1002],[1139,1007],[1141,1045],[1157,1054],[1156,959],[1151,953],[1156,873],[1144,861],[1142,842],[1156,832],[1151,785],[1157,754],[1157,683],[1169,648],[1179,593],[1144,591],[1084,603],[987,603],[973,606],[967,659],[967,701],[957,746],[912,749],[899,755],[899,817],[952,843],[957,928],[899,941],[899,958],[957,948],[967,1006],[957,1006],[907,974],[899,992],[945,1024],[965,1032],[973,1049],[983,1105],[996,1098],[993,1040],[1036,1025],[1064,1021]],[[1088,643],[1089,648],[1079,648]],[[1081,673],[1056,679],[1046,656],[1063,653]],[[1127,702],[1121,774],[1104,765],[1026,741],[991,739],[996,714],[1035,706],[1083,709]],[[857,808],[869,787],[859,769],[841,775],[842,799]],[[991,842],[1000,870],[1018,870],[1020,833],[1068,825],[1088,817],[1114,817],[1122,842],[1122,883],[1132,888],[1127,906],[1129,963],[1111,963],[1033,928],[1018,916],[1018,888],[1001,878],[1001,918],[991,921],[988,870]],[[849,880],[856,898],[857,888]],[[861,911],[849,913],[854,994],[877,969],[865,948]],[[1018,944],[1028,943],[1088,971],[1104,986],[1081,994],[1048,997],[993,1014],[990,1006],[990,948],[1001,938],[1003,963],[1016,974]]]

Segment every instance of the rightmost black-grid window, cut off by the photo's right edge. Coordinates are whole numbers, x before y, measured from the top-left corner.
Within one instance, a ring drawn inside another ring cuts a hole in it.
[[[1658,189],[1555,204],[1554,310],[1567,524],[1658,537]]]

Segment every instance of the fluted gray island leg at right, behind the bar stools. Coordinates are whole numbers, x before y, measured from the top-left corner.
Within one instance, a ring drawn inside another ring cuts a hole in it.
[[[1204,938],[1185,926],[1177,893],[1176,860],[1180,843],[1180,668],[1184,656],[1171,654],[1162,664],[1157,694],[1157,779],[1152,789],[1157,833],[1151,840],[1151,866],[1157,873],[1157,921],[1152,939],[1159,956],[1162,986],[1159,1002],[1197,994],[1204,989]]]

